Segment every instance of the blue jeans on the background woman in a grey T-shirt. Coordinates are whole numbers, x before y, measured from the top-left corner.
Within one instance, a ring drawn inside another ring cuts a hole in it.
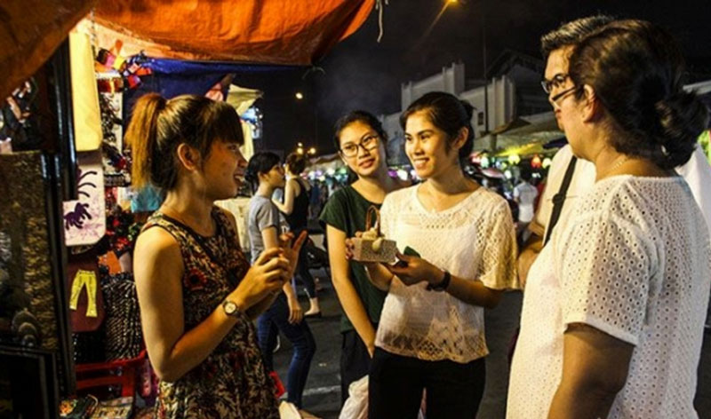
[[[276,347],[276,336],[280,330],[294,348],[292,363],[289,365],[289,376],[286,380],[286,391],[289,393],[287,401],[300,408],[301,396],[308,378],[308,368],[311,367],[311,360],[316,353],[316,341],[306,320],[296,324],[289,323],[289,304],[286,302],[284,292],[280,293],[271,307],[257,319],[257,338],[268,371],[274,370],[273,353]]]

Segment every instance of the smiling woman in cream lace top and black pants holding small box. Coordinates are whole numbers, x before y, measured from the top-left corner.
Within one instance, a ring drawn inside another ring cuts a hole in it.
[[[475,417],[487,355],[483,307],[517,287],[515,230],[507,202],[464,176],[472,107],[427,93],[403,113],[405,152],[424,182],[387,194],[381,227],[397,265],[367,264],[387,290],[369,378],[369,417]]]

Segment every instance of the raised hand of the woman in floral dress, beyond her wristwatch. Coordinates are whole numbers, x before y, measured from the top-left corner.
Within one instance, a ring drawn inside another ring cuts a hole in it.
[[[263,251],[237,288],[232,291],[230,298],[241,310],[245,311],[269,294],[278,292],[284,286],[284,278],[291,278],[290,261],[281,256],[281,253],[280,248]]]

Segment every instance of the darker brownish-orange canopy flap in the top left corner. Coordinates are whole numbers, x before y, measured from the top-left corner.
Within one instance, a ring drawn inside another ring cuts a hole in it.
[[[36,73],[96,0],[2,2],[0,98]]]

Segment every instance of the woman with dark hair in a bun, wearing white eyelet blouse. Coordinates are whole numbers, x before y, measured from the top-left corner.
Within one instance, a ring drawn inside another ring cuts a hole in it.
[[[568,73],[556,107],[596,181],[531,266],[507,417],[697,417],[711,243],[674,168],[707,108],[683,90],[675,40],[646,21],[597,29]]]

